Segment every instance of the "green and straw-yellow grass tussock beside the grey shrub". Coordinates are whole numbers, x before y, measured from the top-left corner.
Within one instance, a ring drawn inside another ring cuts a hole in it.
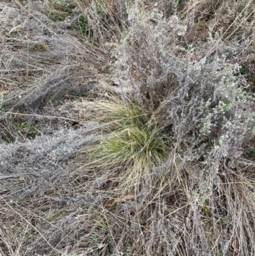
[[[103,170],[119,170],[123,190],[136,190],[154,167],[164,163],[170,152],[170,134],[157,127],[136,105],[108,103],[104,121],[110,132],[98,145],[88,148],[89,165]],[[135,187],[133,185],[136,184]]]

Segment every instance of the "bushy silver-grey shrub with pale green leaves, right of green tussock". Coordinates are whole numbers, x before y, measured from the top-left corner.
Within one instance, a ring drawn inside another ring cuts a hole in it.
[[[171,126],[186,160],[237,159],[254,127],[254,100],[239,72],[244,49],[218,34],[203,46],[184,43],[186,26],[175,15],[134,8],[128,22],[113,71],[123,91],[131,87],[147,114]]]

